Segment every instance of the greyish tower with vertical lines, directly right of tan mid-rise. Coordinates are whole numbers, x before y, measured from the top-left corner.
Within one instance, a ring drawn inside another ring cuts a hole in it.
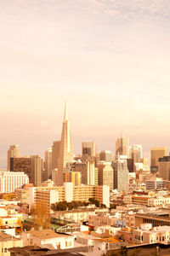
[[[118,191],[123,191],[126,189],[126,184],[128,183],[128,169],[127,160],[120,160],[119,157],[113,164],[114,169],[114,189]]]

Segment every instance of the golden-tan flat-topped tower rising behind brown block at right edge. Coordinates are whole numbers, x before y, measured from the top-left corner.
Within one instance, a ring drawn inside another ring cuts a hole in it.
[[[158,160],[167,155],[167,148],[156,147],[150,149],[150,172],[158,172]]]

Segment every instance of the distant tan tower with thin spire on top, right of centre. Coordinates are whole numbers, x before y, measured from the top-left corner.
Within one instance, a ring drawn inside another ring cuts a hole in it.
[[[121,137],[118,137],[116,139],[116,158],[118,154],[127,155],[127,158],[129,158],[129,138],[124,137],[121,135]]]

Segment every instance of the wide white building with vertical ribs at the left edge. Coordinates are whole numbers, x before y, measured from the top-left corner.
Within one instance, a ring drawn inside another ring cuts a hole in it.
[[[22,185],[29,183],[29,177],[24,172],[1,172],[0,192],[11,193],[19,189]]]

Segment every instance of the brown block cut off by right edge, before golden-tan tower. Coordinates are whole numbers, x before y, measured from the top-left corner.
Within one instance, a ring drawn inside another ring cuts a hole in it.
[[[158,160],[158,177],[170,181],[170,156]]]

